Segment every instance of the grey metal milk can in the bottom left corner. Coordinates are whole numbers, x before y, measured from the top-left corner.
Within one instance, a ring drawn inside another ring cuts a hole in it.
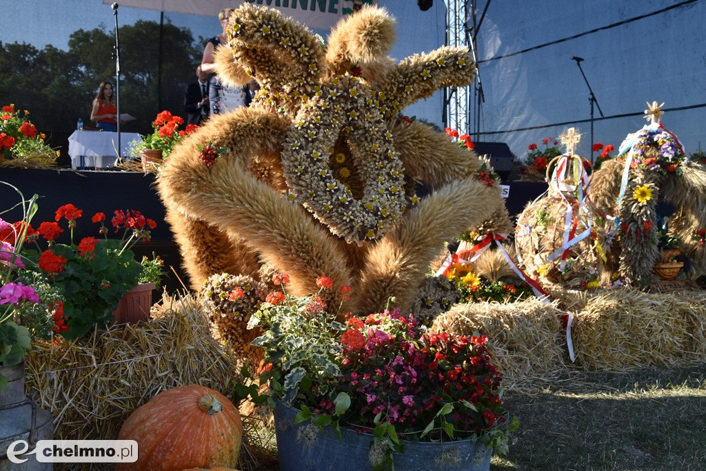
[[[28,458],[25,463],[11,463],[7,449],[18,440],[26,441],[34,450],[39,440],[51,440],[54,433],[52,415],[31,399],[25,397],[25,364],[0,366],[0,374],[8,380],[0,391],[0,471],[47,471],[52,463],[39,463],[35,455],[20,455]],[[18,448],[21,450],[22,448]]]

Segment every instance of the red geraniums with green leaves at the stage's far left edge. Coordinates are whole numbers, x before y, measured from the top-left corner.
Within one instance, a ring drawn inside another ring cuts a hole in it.
[[[0,112],[0,166],[46,167],[54,165],[59,151],[54,151],[28,119],[27,110],[5,105]]]

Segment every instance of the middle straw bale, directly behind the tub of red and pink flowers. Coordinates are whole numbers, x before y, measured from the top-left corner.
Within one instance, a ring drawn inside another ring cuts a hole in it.
[[[493,364],[503,374],[503,385],[520,388],[549,381],[566,371],[565,313],[556,304],[537,298],[515,303],[456,304],[438,316],[433,332],[488,335]]]

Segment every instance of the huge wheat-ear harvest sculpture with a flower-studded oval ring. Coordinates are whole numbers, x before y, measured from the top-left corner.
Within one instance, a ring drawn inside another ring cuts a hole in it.
[[[328,275],[357,293],[347,309],[414,302],[443,244],[480,227],[508,232],[484,162],[431,126],[398,119],[438,88],[472,83],[465,48],[441,47],[395,64],[394,20],[367,7],[342,20],[328,47],[268,8],[243,5],[215,52],[220,80],[261,90],[250,107],[214,116],[177,145],[158,187],[191,285],[232,273],[258,279],[263,262],[290,290]],[[224,150],[206,162],[202,149]],[[487,172],[486,172],[487,173]],[[415,180],[433,188],[419,200]],[[330,290],[325,302],[342,302]]]

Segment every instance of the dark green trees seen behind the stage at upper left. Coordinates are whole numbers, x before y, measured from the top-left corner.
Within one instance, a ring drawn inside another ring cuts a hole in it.
[[[161,29],[161,35],[160,35]],[[188,28],[169,20],[138,20],[119,28],[121,112],[137,118],[124,131],[150,133],[151,121],[164,109],[184,116],[184,90],[195,80],[203,44]],[[89,124],[91,103],[100,82],[115,84],[112,28],[71,33],[68,51],[51,45],[0,42],[0,97],[30,110],[32,123],[54,147],[66,146],[77,119]]]

